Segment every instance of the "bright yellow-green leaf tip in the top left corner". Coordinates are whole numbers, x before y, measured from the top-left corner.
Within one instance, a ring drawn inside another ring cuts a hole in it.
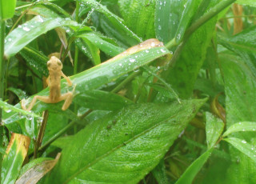
[[[0,0],[0,20],[6,20],[14,16],[16,0]]]

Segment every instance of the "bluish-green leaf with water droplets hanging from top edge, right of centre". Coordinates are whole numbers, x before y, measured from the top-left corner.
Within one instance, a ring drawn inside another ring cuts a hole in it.
[[[186,0],[158,0],[155,8],[156,38],[165,44],[175,37]]]

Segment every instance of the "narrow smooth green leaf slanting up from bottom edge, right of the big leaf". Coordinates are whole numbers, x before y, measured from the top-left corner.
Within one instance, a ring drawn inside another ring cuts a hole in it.
[[[182,174],[182,176],[178,179],[175,184],[190,184],[193,182],[194,177],[198,174],[199,170],[201,170],[202,166],[205,164],[207,159],[210,157],[210,154],[213,152],[214,148],[210,150],[206,150],[204,154],[198,157]]]

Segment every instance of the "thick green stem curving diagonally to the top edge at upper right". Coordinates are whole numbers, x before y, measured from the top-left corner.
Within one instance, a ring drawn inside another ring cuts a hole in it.
[[[206,14],[203,14],[201,18],[198,18],[196,22],[194,22],[184,34],[183,41],[179,44],[178,48],[175,50],[173,57],[171,58],[170,62],[168,62],[167,66],[174,66],[175,62],[177,61],[179,55],[182,52],[183,46],[185,46],[186,42],[190,38],[190,35],[194,33],[195,30],[198,30],[200,26],[204,23],[208,22],[211,18],[214,18],[219,12],[224,10],[227,6],[230,6],[236,0],[223,0],[219,2],[216,6],[212,7]],[[166,44],[166,47],[170,49],[171,46],[174,45],[174,40],[171,40]]]

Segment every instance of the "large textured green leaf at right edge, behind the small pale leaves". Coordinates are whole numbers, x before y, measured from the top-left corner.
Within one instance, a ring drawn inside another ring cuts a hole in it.
[[[227,128],[236,122],[256,122],[256,78],[252,70],[241,58],[234,55],[222,54],[220,59],[225,81]],[[254,132],[239,132],[232,136],[255,146],[255,135]],[[229,182],[234,184],[256,182],[255,163],[232,147],[230,154],[233,160],[240,164],[234,162],[230,166],[227,174]]]

